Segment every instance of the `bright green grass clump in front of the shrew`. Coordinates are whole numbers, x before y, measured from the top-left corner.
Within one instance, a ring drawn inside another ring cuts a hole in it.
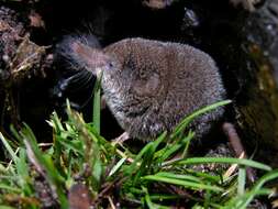
[[[171,134],[163,133],[138,153],[100,135],[100,95],[96,94],[92,123],[70,109],[68,120],[54,112],[48,121],[53,143],[40,144],[24,124],[14,131],[16,147],[0,134],[10,156],[0,164],[0,208],[246,208],[273,189],[264,185],[277,170],[251,160],[187,157],[194,133],[185,129],[201,113],[229,103],[205,107],[185,119]],[[192,169],[198,164],[237,164],[232,176]],[[265,175],[246,188],[246,167]]]

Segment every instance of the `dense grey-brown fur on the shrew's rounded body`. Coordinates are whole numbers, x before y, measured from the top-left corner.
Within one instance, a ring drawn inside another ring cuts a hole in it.
[[[85,44],[80,46],[86,51]],[[105,101],[132,138],[154,139],[164,130],[171,131],[192,111],[225,97],[215,63],[192,46],[126,38],[99,53],[107,63],[97,67],[103,72]],[[76,57],[82,55],[87,53]],[[85,66],[96,67],[88,61]],[[94,72],[93,67],[87,69]],[[223,112],[219,108],[194,120],[197,134],[205,134]]]

